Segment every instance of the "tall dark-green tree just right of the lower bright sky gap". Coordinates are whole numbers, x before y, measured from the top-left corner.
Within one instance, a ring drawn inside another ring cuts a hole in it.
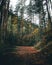
[[[34,0],[34,4],[32,6],[32,10],[34,13],[39,14],[39,33],[40,40],[42,40],[43,29],[45,29],[45,11],[44,11],[44,0]]]

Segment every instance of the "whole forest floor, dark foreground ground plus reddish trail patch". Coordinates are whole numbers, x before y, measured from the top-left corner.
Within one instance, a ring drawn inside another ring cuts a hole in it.
[[[33,46],[16,46],[6,51],[0,54],[0,65],[52,65],[49,55],[39,52]]]

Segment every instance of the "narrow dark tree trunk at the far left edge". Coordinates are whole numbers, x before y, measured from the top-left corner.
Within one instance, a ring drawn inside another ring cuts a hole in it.
[[[0,28],[1,28],[1,43],[3,43],[3,28],[4,28],[4,6],[5,6],[5,2],[3,1],[1,2],[1,24],[0,24]]]

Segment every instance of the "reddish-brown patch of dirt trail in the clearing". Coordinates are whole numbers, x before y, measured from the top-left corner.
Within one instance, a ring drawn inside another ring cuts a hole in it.
[[[38,50],[36,50],[33,46],[17,46],[13,53],[24,55],[24,54],[34,54],[37,52]]]

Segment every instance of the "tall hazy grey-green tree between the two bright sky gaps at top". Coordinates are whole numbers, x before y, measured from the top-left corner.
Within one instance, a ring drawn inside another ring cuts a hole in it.
[[[20,24],[20,25],[18,24],[18,26],[20,27],[19,30],[21,34],[20,36],[23,35],[23,18],[24,18],[25,1],[26,0],[20,0],[19,3],[16,5],[16,9],[15,9],[18,17],[19,17],[18,13],[20,13],[20,21],[18,20],[18,23]]]

